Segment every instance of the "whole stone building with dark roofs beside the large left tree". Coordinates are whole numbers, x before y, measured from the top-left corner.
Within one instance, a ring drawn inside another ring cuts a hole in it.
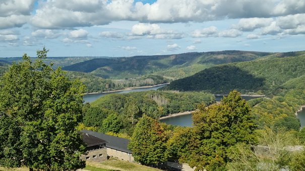
[[[128,147],[129,139],[107,135],[99,132],[82,130],[83,141],[87,144],[87,155],[82,159],[103,161],[114,157],[120,160],[135,162],[133,152]],[[107,156],[107,157],[105,157]]]

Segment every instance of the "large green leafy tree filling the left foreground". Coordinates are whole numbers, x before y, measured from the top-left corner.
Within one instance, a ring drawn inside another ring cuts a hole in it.
[[[0,164],[30,170],[75,170],[85,162],[86,146],[75,127],[82,119],[84,86],[60,68],[33,62],[25,54],[0,83]],[[5,123],[5,124],[4,124]]]

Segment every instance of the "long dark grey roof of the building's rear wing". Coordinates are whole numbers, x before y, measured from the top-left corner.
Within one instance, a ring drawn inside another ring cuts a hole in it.
[[[130,141],[129,139],[120,138],[120,137],[116,137],[116,136],[112,136],[112,135],[107,135],[107,134],[103,134],[103,133],[99,133],[99,132],[89,131],[86,129],[82,130],[81,132],[108,141],[108,143],[106,143],[106,147],[116,149],[119,151],[124,151],[124,152],[131,153],[131,154],[133,153],[132,151],[130,151],[127,148],[128,143]]]

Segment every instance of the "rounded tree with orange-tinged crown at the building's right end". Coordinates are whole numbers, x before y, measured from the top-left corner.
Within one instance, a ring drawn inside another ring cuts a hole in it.
[[[160,123],[144,115],[137,123],[128,148],[137,162],[149,165],[167,159],[166,136]]]

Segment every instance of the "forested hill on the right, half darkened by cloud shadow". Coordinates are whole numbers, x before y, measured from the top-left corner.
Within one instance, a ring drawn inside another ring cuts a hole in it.
[[[294,55],[294,56],[291,56]],[[192,76],[172,81],[165,90],[205,91],[227,94],[276,94],[284,83],[305,75],[305,51],[278,53],[247,62],[217,65]]]

